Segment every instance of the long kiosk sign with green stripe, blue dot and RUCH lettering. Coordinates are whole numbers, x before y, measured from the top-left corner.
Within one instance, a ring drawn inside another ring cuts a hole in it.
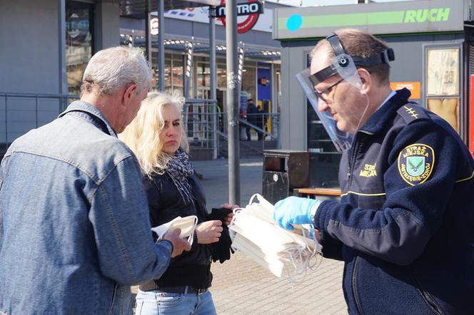
[[[430,0],[276,9],[273,38],[323,37],[345,27],[375,34],[463,31],[466,6],[465,0]]]

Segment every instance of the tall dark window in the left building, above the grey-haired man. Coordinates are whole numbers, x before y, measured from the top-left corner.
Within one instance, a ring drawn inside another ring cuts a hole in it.
[[[82,75],[92,56],[93,4],[66,2],[66,72],[69,94],[79,94]]]

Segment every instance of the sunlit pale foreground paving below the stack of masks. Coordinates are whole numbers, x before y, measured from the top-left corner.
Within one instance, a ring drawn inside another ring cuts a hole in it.
[[[211,271],[217,314],[347,314],[342,262],[323,259],[295,284],[240,252],[224,264],[212,264]]]

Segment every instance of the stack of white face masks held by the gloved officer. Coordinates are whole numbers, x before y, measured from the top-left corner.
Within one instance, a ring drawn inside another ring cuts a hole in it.
[[[276,277],[286,270],[294,280],[316,268],[322,259],[322,247],[309,225],[296,226],[293,231],[279,227],[272,219],[274,209],[261,195],[253,195],[245,208],[234,210],[229,225],[232,247]]]

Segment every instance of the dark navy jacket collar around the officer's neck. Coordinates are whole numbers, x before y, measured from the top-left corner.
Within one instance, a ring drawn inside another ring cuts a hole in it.
[[[370,134],[378,133],[393,113],[395,113],[401,105],[408,103],[410,95],[411,93],[407,88],[396,91],[395,95],[387,100],[381,108],[378,108],[359,131]]]

